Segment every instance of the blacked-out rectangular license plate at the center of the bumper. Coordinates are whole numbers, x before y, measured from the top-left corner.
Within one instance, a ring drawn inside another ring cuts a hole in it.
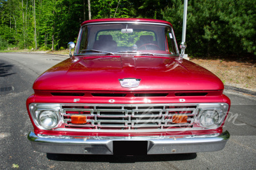
[[[113,141],[114,155],[147,155],[148,141]]]

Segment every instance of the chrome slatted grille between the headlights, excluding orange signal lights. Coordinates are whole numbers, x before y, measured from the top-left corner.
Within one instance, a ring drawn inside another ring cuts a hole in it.
[[[186,104],[76,104],[61,105],[65,128],[167,129],[193,127],[197,105]],[[86,124],[72,124],[72,115],[86,115]],[[186,123],[173,123],[173,115],[186,115]]]

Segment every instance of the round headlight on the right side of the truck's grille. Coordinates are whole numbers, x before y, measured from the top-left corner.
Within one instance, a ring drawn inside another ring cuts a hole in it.
[[[212,127],[214,125],[218,125],[218,122],[220,120],[220,115],[218,111],[216,110],[205,110],[201,115],[200,115],[200,123],[204,127]]]

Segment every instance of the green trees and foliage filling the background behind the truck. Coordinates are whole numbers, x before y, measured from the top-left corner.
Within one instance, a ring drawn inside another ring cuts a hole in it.
[[[92,18],[156,18],[173,24],[181,42],[182,0],[91,0]],[[189,55],[256,55],[255,0],[189,0]],[[88,20],[87,0],[0,0],[0,50],[65,49]]]

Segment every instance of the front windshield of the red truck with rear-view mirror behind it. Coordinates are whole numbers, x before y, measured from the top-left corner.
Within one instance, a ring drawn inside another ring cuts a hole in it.
[[[81,28],[76,54],[157,53],[177,54],[172,27],[161,24],[105,23]]]

